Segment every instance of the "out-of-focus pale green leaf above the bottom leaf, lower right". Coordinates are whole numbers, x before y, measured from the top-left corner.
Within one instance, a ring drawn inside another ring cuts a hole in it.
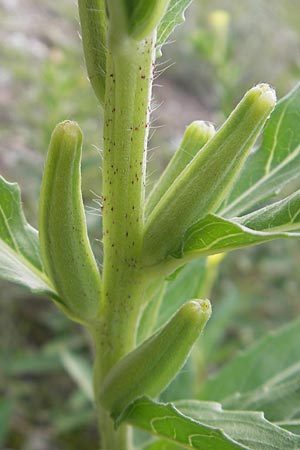
[[[248,393],[252,392],[254,399],[257,389],[263,386],[271,388],[276,384],[278,387],[281,384],[282,387],[288,381],[295,383],[296,392],[300,363],[299,341],[300,321],[297,320],[234,358],[205,383],[201,399],[220,401],[226,405],[234,401],[235,407],[240,408],[237,393],[240,394],[242,403],[244,395]]]

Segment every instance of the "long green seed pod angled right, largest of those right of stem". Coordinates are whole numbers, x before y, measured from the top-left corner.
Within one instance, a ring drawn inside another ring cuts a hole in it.
[[[267,84],[250,89],[224,125],[181,172],[145,224],[144,264],[177,254],[186,230],[220,206],[274,109]]]

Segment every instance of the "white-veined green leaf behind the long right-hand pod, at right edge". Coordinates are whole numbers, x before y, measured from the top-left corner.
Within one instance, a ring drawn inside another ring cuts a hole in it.
[[[300,84],[278,102],[265,126],[261,145],[249,156],[218,213],[232,217],[248,212],[298,177],[299,110]]]

